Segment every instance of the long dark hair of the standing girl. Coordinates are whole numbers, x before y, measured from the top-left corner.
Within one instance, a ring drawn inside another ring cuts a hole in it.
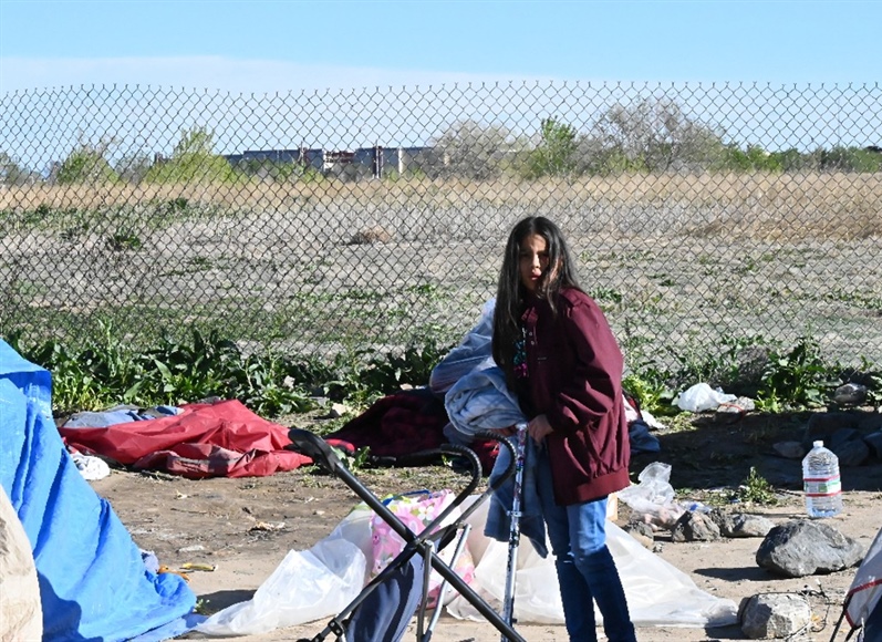
[[[581,289],[560,228],[543,216],[521,219],[508,236],[494,312],[494,360],[509,380],[513,372],[515,342],[520,339],[520,315],[528,294],[520,282],[520,245],[532,235],[546,239],[548,250],[548,269],[536,286],[536,297],[547,300],[552,313],[557,313],[561,288]]]

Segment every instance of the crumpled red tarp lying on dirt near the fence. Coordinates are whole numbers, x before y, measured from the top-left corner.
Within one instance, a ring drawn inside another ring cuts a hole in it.
[[[286,451],[288,428],[249,411],[239,401],[187,404],[181,414],[101,428],[60,427],[62,438],[84,454],[135,468],[203,477],[262,477],[311,464]]]

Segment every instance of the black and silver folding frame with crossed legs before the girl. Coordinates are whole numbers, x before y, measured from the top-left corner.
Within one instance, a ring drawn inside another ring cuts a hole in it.
[[[414,532],[408,527],[406,527],[398,517],[388,509],[388,507],[383,504],[383,501],[374,495],[362,482],[352,474],[352,472],[346,468],[343,462],[338,457],[336,453],[331,448],[331,446],[318,435],[304,431],[301,428],[291,428],[288,433],[289,438],[291,439],[291,449],[300,452],[309,457],[315,464],[325,467],[330,473],[335,475],[340,478],[346,486],[350,487],[351,490],[355,493],[376,515],[383,519],[405,542],[404,549],[400,552],[386,568],[383,569],[373,580],[371,580],[362,591],[352,600],[349,605],[346,605],[341,612],[339,612],[328,625],[322,630],[319,634],[311,639],[311,642],[322,642],[325,638],[330,634],[335,634],[338,640],[345,640],[345,627],[349,618],[353,614],[353,612],[362,604],[362,602],[367,599],[367,597],[376,590],[388,577],[391,577],[394,572],[398,569],[404,567],[405,565],[411,563],[411,559],[414,556],[422,556],[426,561],[425,565],[425,572],[428,572],[434,569],[438,572],[438,574],[443,578],[444,584],[442,587],[442,596],[444,590],[449,584],[453,587],[463,598],[465,598],[481,615],[484,615],[487,621],[492,624],[501,634],[504,640],[508,640],[509,642],[526,642],[523,638],[515,631],[511,625],[511,622],[506,621],[499,613],[497,613],[487,601],[479,596],[468,583],[466,583],[463,578],[460,578],[457,572],[452,568],[450,565],[445,562],[438,555],[437,551],[444,549],[456,536],[457,531],[463,528],[465,520],[468,516],[470,516],[478,506],[487,499],[499,486],[501,486],[511,475],[515,474],[516,468],[516,457],[513,453],[513,447],[509,443],[508,439],[497,436],[494,433],[482,431],[476,435],[479,438],[489,438],[497,441],[501,447],[509,448],[511,451],[510,462],[511,465],[506,470],[506,474],[502,475],[495,484],[488,486],[488,488],[465,510],[461,511],[460,516],[446,526],[440,526],[440,524],[447,519],[447,517],[453,512],[454,509],[459,507],[459,505],[469,497],[478,486],[478,483],[481,478],[481,465],[478,456],[475,454],[474,451],[467,448],[465,446],[459,446],[456,444],[443,444],[437,449],[423,452],[414,455],[412,458],[415,460],[425,460],[427,456],[430,455],[448,455],[448,456],[457,456],[464,457],[466,462],[471,467],[471,480],[469,484],[460,490],[455,499],[450,503],[450,505],[443,510],[435,519],[428,524],[424,530],[419,534]],[[411,458],[411,457],[408,457]],[[463,541],[460,539],[459,545],[461,546]],[[429,627],[428,632],[424,635],[423,632],[423,618],[426,608],[426,593],[428,591],[428,582],[424,582],[423,584],[423,599],[421,601],[421,605],[418,608],[418,631],[417,631],[417,639],[421,642],[425,642],[432,635],[432,627],[434,627],[435,622],[437,621],[437,615],[439,613],[439,609],[442,608],[440,597],[438,599],[438,604],[436,607],[435,617],[432,620],[432,624]],[[361,642],[361,641],[359,641]]]

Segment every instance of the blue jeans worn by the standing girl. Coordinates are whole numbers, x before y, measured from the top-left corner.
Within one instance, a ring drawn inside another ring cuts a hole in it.
[[[596,601],[609,641],[636,642],[622,580],[606,548],[606,497],[558,506],[547,449],[539,451],[537,486],[570,641],[596,642]]]

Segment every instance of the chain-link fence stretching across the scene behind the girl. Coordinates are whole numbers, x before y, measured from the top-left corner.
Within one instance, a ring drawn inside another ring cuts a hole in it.
[[[878,362],[880,145],[878,83],[8,93],[0,332],[452,344],[544,215],[631,362],[805,336]]]

